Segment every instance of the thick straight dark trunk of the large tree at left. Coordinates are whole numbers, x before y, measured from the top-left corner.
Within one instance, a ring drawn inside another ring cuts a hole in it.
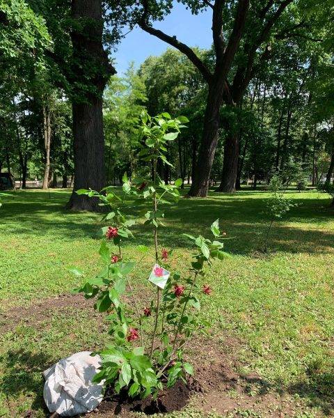
[[[102,94],[115,72],[102,46],[102,0],[72,0],[74,189],[67,208],[99,211],[97,199],[77,189],[100,190],[105,184]],[[88,81],[87,81],[88,80]]]

